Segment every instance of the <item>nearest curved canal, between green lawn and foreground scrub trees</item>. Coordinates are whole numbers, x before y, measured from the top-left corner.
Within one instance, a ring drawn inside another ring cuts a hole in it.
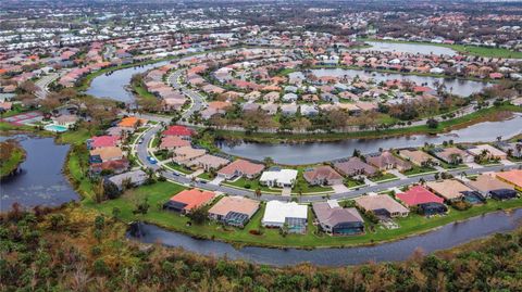
[[[166,246],[178,246],[198,254],[219,257],[226,256],[227,258],[245,259],[257,264],[286,266],[308,262],[320,266],[345,266],[358,265],[370,261],[405,261],[418,249],[425,253],[432,253],[496,232],[511,231],[520,226],[521,220],[522,210],[520,208],[512,213],[495,212],[389,243],[344,249],[315,249],[311,251],[253,246],[236,250],[228,243],[198,240],[148,224],[139,224],[138,228],[141,237],[133,237],[130,232],[127,232],[127,237],[144,243],[161,242]]]

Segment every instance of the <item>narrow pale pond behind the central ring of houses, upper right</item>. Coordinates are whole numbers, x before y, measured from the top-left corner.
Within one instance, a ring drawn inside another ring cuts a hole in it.
[[[312,69],[312,73],[318,76],[335,76],[335,77],[356,77],[361,78],[373,78],[376,82],[387,81],[387,80],[410,80],[417,85],[426,84],[428,87],[435,89],[435,81],[444,84],[446,86],[446,91],[460,96],[469,97],[472,93],[482,91],[484,88],[489,86],[488,82],[480,82],[472,80],[463,80],[457,78],[436,78],[430,76],[418,76],[418,75],[402,75],[395,73],[378,73],[378,72],[365,72],[360,69],[343,69],[343,68],[322,68],[322,69]]]

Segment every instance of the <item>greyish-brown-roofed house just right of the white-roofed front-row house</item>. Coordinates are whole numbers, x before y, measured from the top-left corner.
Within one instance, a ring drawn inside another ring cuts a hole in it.
[[[343,208],[336,200],[312,205],[319,225],[332,236],[351,236],[364,232],[364,220],[355,207]]]

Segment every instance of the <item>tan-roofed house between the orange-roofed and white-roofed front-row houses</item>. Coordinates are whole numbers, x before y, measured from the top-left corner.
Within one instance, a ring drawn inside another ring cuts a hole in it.
[[[258,210],[259,202],[256,200],[245,196],[224,196],[209,210],[209,217],[243,228]]]

